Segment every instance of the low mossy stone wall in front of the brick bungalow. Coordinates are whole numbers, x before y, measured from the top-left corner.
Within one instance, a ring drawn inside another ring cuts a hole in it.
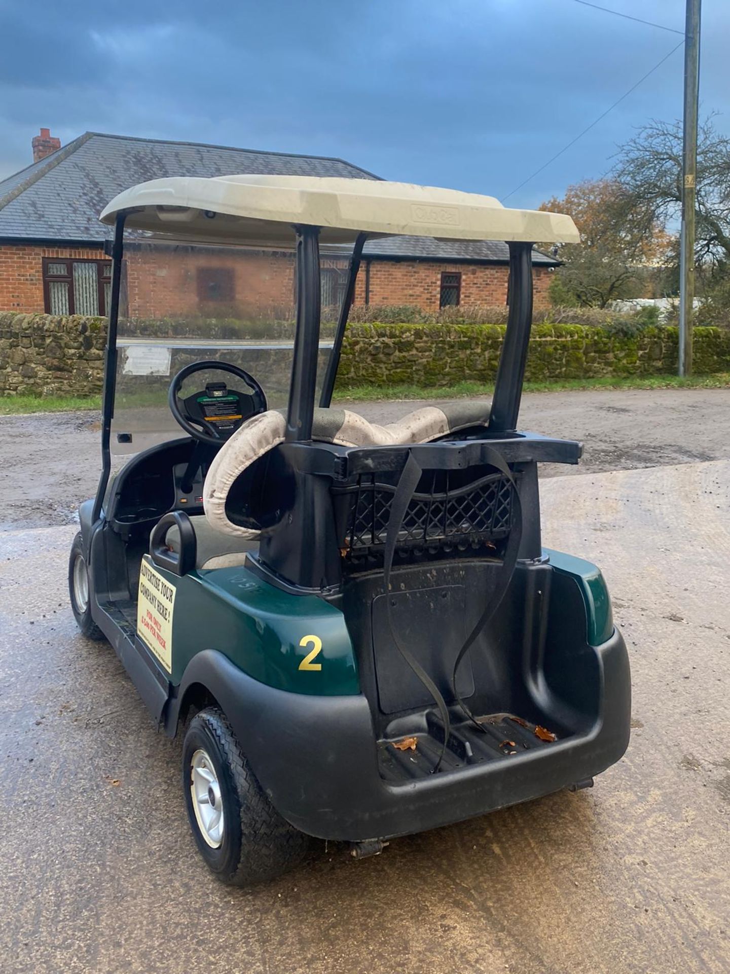
[[[85,395],[101,389],[103,318],[0,314],[0,394]],[[695,328],[695,371],[730,371],[730,329]],[[339,386],[490,382],[504,325],[351,324]],[[531,381],[674,373],[676,328],[635,334],[579,324],[536,324]]]

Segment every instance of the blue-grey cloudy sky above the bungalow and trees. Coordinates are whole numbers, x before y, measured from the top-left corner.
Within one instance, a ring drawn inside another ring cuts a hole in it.
[[[597,0],[676,29],[683,0]],[[730,3],[705,4],[701,97],[730,131]],[[0,0],[0,177],[49,127],[340,156],[504,197],[681,40],[574,0]],[[681,113],[682,51],[510,199],[599,176]]]

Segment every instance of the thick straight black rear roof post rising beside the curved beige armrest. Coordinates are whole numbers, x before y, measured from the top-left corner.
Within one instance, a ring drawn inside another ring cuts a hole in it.
[[[291,366],[286,442],[311,439],[317,358],[319,356],[319,227],[296,227],[297,232],[297,331]]]

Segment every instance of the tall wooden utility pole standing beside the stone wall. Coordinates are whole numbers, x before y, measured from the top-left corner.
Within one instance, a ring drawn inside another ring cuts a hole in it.
[[[682,223],[679,256],[679,375],[690,375],[692,373],[701,6],[702,0],[687,0],[687,18],[684,28],[684,146],[682,158]]]

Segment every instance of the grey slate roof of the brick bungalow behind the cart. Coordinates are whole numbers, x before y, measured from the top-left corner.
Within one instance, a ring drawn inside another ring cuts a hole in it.
[[[380,178],[343,159],[88,131],[40,162],[0,180],[0,241],[100,244],[111,239],[114,229],[99,223],[98,214],[122,190],[164,176],[234,172]],[[393,260],[509,260],[506,244],[442,243],[422,237],[371,241],[364,253]],[[560,261],[535,250],[533,263],[558,266]]]

